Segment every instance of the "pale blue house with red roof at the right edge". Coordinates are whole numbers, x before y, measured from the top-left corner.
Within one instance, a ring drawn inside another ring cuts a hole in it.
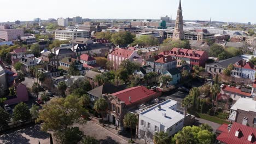
[[[251,62],[240,60],[234,64],[234,69],[231,71],[231,76],[254,81],[255,73],[255,66]]]

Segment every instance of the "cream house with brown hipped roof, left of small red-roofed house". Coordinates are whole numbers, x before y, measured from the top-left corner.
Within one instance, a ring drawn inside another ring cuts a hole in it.
[[[70,58],[70,57],[65,57],[60,60],[60,66],[59,68],[68,72],[68,69],[70,65],[74,63],[75,67],[79,70],[79,73],[81,75],[85,74],[85,69],[83,67],[83,63],[80,62],[80,57],[77,57],[77,59]]]

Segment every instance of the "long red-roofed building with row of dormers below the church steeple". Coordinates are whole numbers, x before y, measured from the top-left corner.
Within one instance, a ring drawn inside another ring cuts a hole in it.
[[[188,50],[174,47],[169,53],[169,56],[172,56],[177,59],[177,66],[182,65],[182,60],[184,60],[190,67],[198,65],[199,67],[205,67],[205,63],[208,59],[208,54],[205,51],[199,50]]]

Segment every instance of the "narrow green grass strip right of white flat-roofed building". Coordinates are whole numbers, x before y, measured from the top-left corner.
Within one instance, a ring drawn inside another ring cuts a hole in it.
[[[210,115],[205,114],[205,113],[200,113],[200,112],[196,112],[196,111],[193,111],[193,110],[188,110],[188,113],[190,113],[191,115],[194,115],[198,118],[206,119],[207,121],[211,121],[211,122],[214,122],[214,123],[218,123],[218,124],[227,123],[227,124],[229,124],[229,122],[225,121],[224,119],[220,119],[218,117],[210,116]]]

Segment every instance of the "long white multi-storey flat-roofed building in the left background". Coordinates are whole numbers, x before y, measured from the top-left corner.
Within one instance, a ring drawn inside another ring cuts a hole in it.
[[[73,40],[75,38],[90,38],[90,31],[81,29],[55,31],[55,39]]]

